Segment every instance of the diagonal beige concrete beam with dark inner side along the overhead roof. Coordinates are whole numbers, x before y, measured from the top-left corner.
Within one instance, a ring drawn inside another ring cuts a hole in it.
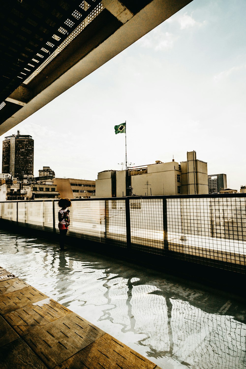
[[[48,104],[192,0],[102,0],[103,11],[0,110],[0,135]],[[141,3],[141,6],[139,5]]]

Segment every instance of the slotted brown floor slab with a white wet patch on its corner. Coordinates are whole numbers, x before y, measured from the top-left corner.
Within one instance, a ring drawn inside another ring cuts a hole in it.
[[[4,314],[4,318],[23,336],[31,333],[35,327],[43,328],[46,324],[71,313],[71,310],[48,298]]]

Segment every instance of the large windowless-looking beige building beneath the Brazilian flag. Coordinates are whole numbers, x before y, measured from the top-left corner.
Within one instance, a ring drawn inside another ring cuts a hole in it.
[[[162,196],[208,194],[207,163],[197,160],[196,153],[187,152],[187,161],[104,170],[98,173],[96,197]]]

